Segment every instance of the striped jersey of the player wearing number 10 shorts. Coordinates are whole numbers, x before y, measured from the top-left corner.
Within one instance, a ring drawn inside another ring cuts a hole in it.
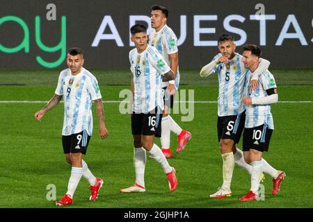
[[[275,78],[270,71],[262,72],[258,79],[257,89],[251,92],[250,77],[251,71],[246,71],[246,82],[243,96],[252,98],[263,98],[268,96],[267,89],[277,88]],[[245,128],[254,128],[265,124],[269,129],[274,129],[273,116],[271,114],[271,104],[268,105],[248,105],[246,106]]]

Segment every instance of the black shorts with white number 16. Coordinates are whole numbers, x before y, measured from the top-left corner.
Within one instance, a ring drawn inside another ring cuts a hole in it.
[[[161,137],[162,110],[155,108],[144,113],[134,113],[131,115],[132,135],[155,135]]]

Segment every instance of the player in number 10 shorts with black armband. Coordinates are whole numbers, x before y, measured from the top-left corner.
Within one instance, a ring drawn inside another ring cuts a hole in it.
[[[246,162],[252,166],[251,188],[248,194],[240,198],[240,201],[258,200],[259,180],[264,168],[262,153],[268,151],[268,145],[274,130],[273,116],[271,114],[271,104],[278,102],[277,86],[275,78],[270,71],[263,71],[258,78],[257,89],[251,90],[250,76],[259,65],[261,50],[254,44],[243,46],[242,62],[246,69],[246,81],[244,96],[242,101],[246,105],[246,122],[243,132],[243,156]],[[268,165],[268,163],[265,163]],[[271,166],[269,174],[273,178],[272,194],[276,195],[280,189],[280,184],[285,173],[277,171]]]

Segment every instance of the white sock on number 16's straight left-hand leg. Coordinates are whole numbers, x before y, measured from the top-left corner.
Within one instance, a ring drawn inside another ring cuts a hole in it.
[[[147,157],[143,147],[134,147],[134,167],[136,173],[136,183],[145,187],[145,162]]]

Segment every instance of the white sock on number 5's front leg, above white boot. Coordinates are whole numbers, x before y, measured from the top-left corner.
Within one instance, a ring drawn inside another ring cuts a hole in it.
[[[224,153],[223,157],[223,185],[222,188],[230,191],[232,182],[232,172],[234,171],[234,155],[233,153]]]

